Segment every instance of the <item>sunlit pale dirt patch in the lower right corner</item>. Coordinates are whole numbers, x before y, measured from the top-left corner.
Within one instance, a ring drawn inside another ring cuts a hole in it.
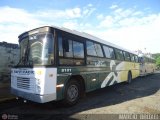
[[[160,90],[154,95],[136,98],[115,105],[104,106],[97,109],[91,109],[79,112],[79,114],[140,114],[152,113],[160,114]]]

